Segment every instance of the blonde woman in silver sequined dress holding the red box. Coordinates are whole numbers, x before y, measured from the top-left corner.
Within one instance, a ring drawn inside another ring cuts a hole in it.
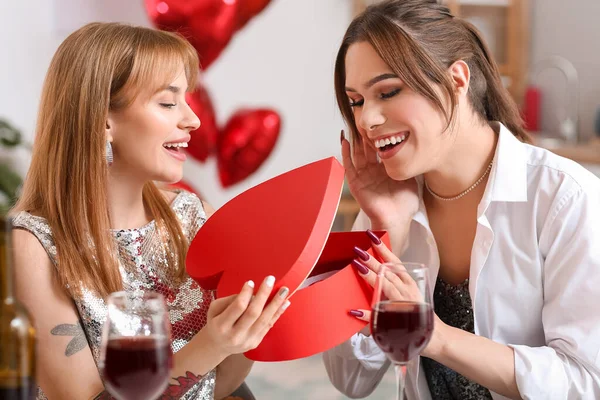
[[[167,298],[174,352],[165,399],[223,398],[285,310],[273,278],[212,301],[185,272],[211,208],[154,182],[181,179],[200,121],[186,104],[198,59],[177,35],[94,23],[58,48],[43,88],[33,159],[13,212],[17,293],[38,333],[38,398],[110,398],[97,368],[104,298]],[[181,379],[178,379],[181,378]],[[177,393],[174,395],[173,393]]]

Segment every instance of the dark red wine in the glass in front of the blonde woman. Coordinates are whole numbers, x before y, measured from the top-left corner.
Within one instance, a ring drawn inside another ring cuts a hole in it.
[[[155,399],[166,389],[171,358],[166,338],[113,337],[106,345],[104,382],[120,399]]]

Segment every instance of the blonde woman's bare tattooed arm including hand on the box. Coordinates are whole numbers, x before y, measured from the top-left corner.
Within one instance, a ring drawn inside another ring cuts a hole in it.
[[[57,286],[43,247],[23,230],[15,230],[14,246],[20,249],[15,252],[17,296],[32,314],[37,331],[40,387],[49,399],[110,398],[102,392],[77,310]],[[240,295],[213,302],[207,325],[175,354],[173,382],[162,399],[179,398],[171,393],[189,390],[229,355],[256,347],[285,309],[281,307],[285,298],[276,296],[263,311],[270,291],[261,286],[251,302],[253,290],[245,285]]]

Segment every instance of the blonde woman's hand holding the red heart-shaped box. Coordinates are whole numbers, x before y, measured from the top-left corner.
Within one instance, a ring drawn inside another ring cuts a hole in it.
[[[202,333],[223,357],[258,347],[267,332],[290,305],[289,289],[282,287],[266,305],[275,278],[267,277],[255,296],[254,283],[244,284],[237,295],[214,300],[208,309],[208,321]]]

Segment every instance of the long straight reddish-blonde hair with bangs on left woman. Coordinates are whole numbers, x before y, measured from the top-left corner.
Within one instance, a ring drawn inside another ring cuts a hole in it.
[[[108,212],[108,112],[126,108],[142,90],[167,85],[182,62],[191,88],[198,56],[186,40],[118,23],[80,28],[52,59],[31,166],[15,211],[47,219],[59,259],[58,282],[73,296],[82,287],[106,296],[123,286]],[[166,254],[170,265],[178,262],[174,277],[180,280],[187,242],[177,217],[152,182],[143,189],[143,201],[159,232],[170,238]]]

